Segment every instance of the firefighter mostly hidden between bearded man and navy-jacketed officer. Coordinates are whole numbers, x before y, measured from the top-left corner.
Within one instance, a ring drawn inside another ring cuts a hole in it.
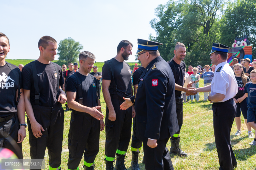
[[[134,73],[133,73],[133,89],[134,89],[134,94],[137,92],[137,86],[138,86],[138,81],[142,73],[144,72],[145,68],[141,65]],[[139,152],[142,146],[142,141],[139,140],[136,137],[136,116],[133,118],[133,136],[132,136],[132,145],[131,145],[131,151],[133,153],[132,156],[132,162],[131,162],[131,167],[133,170],[140,170],[139,168]],[[143,161],[144,163],[144,157]]]

